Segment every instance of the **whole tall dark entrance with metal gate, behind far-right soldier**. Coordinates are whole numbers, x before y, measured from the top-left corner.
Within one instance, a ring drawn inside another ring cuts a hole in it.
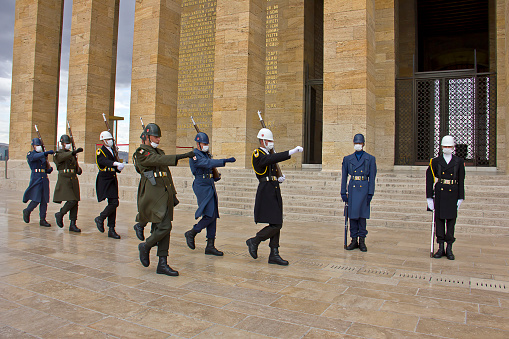
[[[493,9],[490,0],[400,5],[396,165],[429,163],[449,134],[467,164],[496,166]],[[402,17],[412,12],[414,22]]]

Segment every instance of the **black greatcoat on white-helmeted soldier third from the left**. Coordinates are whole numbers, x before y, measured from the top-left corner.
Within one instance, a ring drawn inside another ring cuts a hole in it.
[[[96,151],[95,157],[99,168],[95,181],[97,201],[118,199],[117,173],[120,173],[120,171],[113,166],[116,161],[115,157],[104,145]]]

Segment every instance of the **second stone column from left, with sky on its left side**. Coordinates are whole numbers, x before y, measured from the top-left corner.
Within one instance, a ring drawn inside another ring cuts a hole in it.
[[[95,145],[105,130],[102,113],[113,113],[118,4],[73,2],[67,119],[87,163],[95,162]]]

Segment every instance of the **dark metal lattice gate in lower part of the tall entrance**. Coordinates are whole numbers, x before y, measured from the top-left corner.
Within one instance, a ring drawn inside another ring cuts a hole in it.
[[[396,79],[396,165],[424,165],[452,135],[455,154],[496,166],[496,76],[445,71]]]

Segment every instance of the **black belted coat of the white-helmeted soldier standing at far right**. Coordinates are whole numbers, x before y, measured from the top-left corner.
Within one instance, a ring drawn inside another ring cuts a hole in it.
[[[438,179],[433,188],[433,174]],[[440,179],[457,180],[452,185]],[[435,198],[435,213],[439,219],[456,219],[458,199],[465,199],[465,162],[455,155],[447,163],[442,155],[431,159],[426,171],[426,198]]]

